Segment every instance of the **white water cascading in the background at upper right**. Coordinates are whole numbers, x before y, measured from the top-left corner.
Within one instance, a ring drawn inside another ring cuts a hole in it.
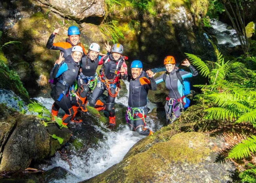
[[[220,21],[210,21],[210,25],[214,28],[218,44],[229,43],[229,47],[240,45],[236,30],[228,30],[226,28],[228,25]]]

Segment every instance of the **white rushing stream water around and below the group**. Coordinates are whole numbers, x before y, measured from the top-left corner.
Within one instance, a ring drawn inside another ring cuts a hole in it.
[[[124,81],[124,83],[126,84],[128,93],[124,97],[117,97],[115,102],[126,107],[128,105],[129,82]],[[51,109],[53,104],[52,99],[42,97],[35,99],[46,106],[46,108]],[[153,109],[157,106],[148,102],[148,107]],[[159,129],[162,126],[159,122],[154,122],[150,118],[147,118],[146,121],[146,127],[149,129]],[[130,131],[127,125],[119,126],[117,132],[111,131],[103,124],[101,124],[100,127],[94,126],[94,128],[104,135],[103,140],[98,142],[97,147],[89,148],[83,155],[75,156],[76,152],[74,150],[74,155],[72,155],[71,158],[69,157],[69,161],[72,165],[71,170],[68,162],[62,160],[59,153],[56,153],[55,156],[51,158],[51,165],[41,165],[41,168],[44,170],[60,166],[71,173],[66,179],[54,180],[54,183],[79,182],[104,172],[109,167],[120,162],[129,149],[136,142],[145,137]]]

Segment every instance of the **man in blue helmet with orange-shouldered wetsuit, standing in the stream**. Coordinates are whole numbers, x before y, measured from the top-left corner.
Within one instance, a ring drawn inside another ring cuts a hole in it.
[[[132,75],[128,75],[129,85],[128,108],[126,110],[126,121],[130,130],[140,135],[151,135],[153,132],[145,128],[145,118],[149,111],[147,107],[148,90],[156,90],[157,84],[154,73],[151,70],[143,71],[142,62],[134,60],[131,65]]]

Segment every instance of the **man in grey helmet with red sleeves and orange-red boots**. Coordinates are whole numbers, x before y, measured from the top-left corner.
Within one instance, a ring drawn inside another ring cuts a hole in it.
[[[99,65],[103,65],[100,69],[100,81],[90,97],[89,104],[91,106],[95,106],[98,111],[106,108],[109,112],[109,126],[115,126],[116,116],[113,106],[115,98],[120,90],[119,79],[127,78],[127,65],[125,60],[128,58],[122,56],[123,46],[121,44],[114,44],[112,49],[109,44],[105,43],[105,45],[108,55],[102,57],[99,61]],[[108,91],[108,100],[106,105],[99,100],[99,97],[105,90]]]

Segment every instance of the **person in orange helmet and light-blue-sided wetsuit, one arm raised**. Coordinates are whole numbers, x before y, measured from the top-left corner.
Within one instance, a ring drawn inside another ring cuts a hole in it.
[[[166,97],[165,115],[167,125],[172,124],[181,115],[181,111],[186,104],[186,98],[183,91],[183,79],[198,75],[197,70],[189,63],[188,59],[184,59],[181,63],[187,66],[191,72],[179,70],[175,64],[173,56],[167,56],[163,61],[166,72],[156,78],[156,83],[165,82],[165,87],[169,90]]]

